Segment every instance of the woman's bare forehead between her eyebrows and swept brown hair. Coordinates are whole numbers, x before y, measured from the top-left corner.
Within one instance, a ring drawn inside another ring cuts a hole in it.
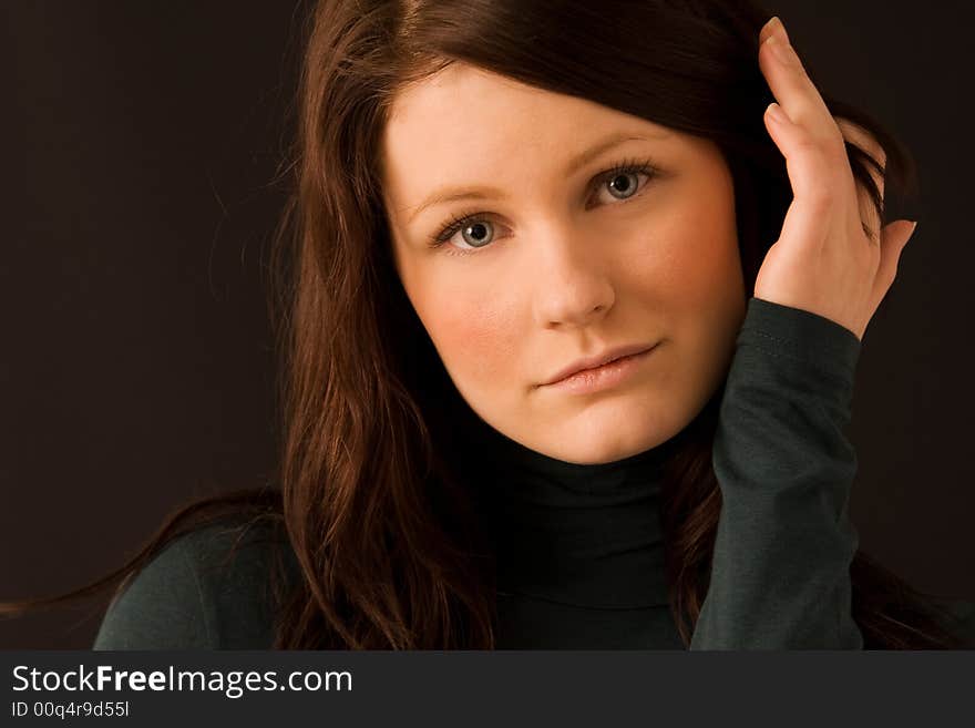
[[[400,206],[456,175],[503,180],[544,174],[614,131],[646,135],[664,126],[585,99],[553,93],[464,63],[404,89],[382,135],[384,193]],[[413,199],[417,197],[417,199]]]

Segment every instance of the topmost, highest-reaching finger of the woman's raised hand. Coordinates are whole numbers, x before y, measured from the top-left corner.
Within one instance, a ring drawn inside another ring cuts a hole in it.
[[[789,43],[781,21],[772,18],[762,29],[762,37],[759,66],[776,101],[789,119],[809,129],[817,139],[829,142],[835,152],[838,145],[842,146],[840,129]]]

